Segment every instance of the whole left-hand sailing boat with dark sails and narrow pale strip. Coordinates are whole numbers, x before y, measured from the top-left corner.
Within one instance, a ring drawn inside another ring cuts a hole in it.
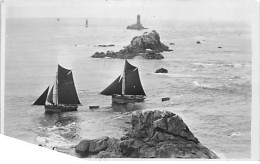
[[[76,87],[74,84],[72,71],[58,65],[55,83],[49,91],[49,87],[34,102],[33,105],[44,105],[46,113],[59,113],[76,111],[81,105]]]

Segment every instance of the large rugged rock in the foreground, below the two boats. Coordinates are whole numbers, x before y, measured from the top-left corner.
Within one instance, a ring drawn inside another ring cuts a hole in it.
[[[76,145],[81,157],[95,158],[206,158],[217,155],[204,147],[176,114],[134,112],[132,130],[121,139],[103,137]]]

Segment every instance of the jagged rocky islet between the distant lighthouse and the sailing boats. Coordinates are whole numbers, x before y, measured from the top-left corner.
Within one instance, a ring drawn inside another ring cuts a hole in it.
[[[132,59],[136,56],[141,56],[145,59],[163,59],[164,57],[160,54],[160,52],[163,51],[172,50],[170,50],[168,46],[161,43],[159,34],[153,30],[149,33],[145,32],[141,36],[134,37],[128,46],[118,52],[96,52],[91,57]]]

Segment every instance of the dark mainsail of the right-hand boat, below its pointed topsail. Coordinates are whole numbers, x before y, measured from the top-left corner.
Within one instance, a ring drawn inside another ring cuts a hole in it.
[[[125,94],[145,96],[137,68],[133,71],[128,71],[125,76]]]

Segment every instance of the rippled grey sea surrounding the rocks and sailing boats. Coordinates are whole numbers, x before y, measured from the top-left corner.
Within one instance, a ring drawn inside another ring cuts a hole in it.
[[[144,19],[7,18],[5,135],[50,149],[70,150],[82,139],[120,138],[131,113],[168,110],[221,159],[248,159],[251,145],[251,26],[248,22]],[[147,98],[115,105],[99,93],[123,71],[124,59],[91,58],[119,51],[134,36],[156,30],[173,51],[162,60],[129,59]],[[201,44],[197,44],[200,41]],[[170,44],[171,43],[171,44]],[[114,44],[114,47],[99,47]],[[82,106],[48,115],[34,101],[55,82],[57,66],[71,69]],[[166,68],[167,74],[155,73]],[[169,97],[169,101],[161,98]],[[98,109],[89,109],[98,105]],[[69,151],[73,154],[73,151]]]

